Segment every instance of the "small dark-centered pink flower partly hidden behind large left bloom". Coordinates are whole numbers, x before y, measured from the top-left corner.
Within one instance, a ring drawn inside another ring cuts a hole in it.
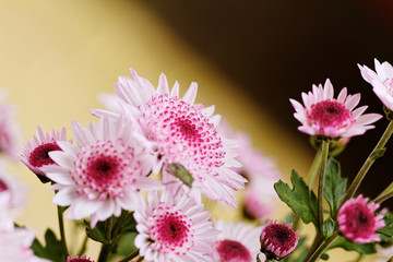
[[[40,176],[45,177],[41,168],[44,166],[57,165],[49,157],[49,152],[61,151],[58,145],[59,141],[67,141],[67,131],[64,128],[58,132],[51,130],[49,134],[48,132],[45,133],[40,127],[37,127],[37,136],[34,136],[32,141],[27,141],[20,157],[21,162],[34,174],[38,175],[38,178],[41,178]],[[47,179],[44,179],[44,181],[47,181]]]

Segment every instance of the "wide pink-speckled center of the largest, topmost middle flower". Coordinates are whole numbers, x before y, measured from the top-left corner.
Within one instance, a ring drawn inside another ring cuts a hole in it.
[[[225,151],[214,124],[200,109],[178,97],[156,95],[142,111],[142,122],[166,164],[183,165],[194,179],[216,176],[224,165]]]

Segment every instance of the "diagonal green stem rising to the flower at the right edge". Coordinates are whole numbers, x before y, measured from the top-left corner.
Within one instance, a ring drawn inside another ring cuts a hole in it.
[[[354,196],[354,194],[356,193],[356,190],[359,188],[360,182],[365,178],[367,171],[370,169],[370,167],[372,166],[374,160],[383,155],[384,145],[388,143],[392,133],[393,133],[393,121],[390,121],[389,126],[386,127],[386,130],[382,134],[380,141],[378,142],[378,144],[376,145],[376,147],[373,148],[371,154],[368,156],[365,164],[361,166],[360,170],[356,175],[354,181],[349,186],[349,189],[348,189],[343,202],[345,202],[348,199]]]

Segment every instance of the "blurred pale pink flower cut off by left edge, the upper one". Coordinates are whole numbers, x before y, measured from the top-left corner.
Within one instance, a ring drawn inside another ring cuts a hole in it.
[[[17,157],[20,128],[15,122],[15,108],[4,102],[4,91],[0,91],[0,153]]]

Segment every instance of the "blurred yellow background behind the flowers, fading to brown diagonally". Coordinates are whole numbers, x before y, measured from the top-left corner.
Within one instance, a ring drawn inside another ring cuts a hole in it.
[[[0,1],[0,88],[10,91],[9,102],[19,108],[21,146],[37,126],[70,131],[72,120],[94,120],[90,109],[102,107],[97,95],[112,93],[117,76],[129,75],[132,67],[153,84],[164,72],[170,85],[179,81],[181,92],[196,81],[196,103],[216,105],[216,112],[248,131],[284,175],[291,168],[308,170],[308,145],[290,138],[275,123],[274,112],[261,111],[241,85],[229,82],[142,1]],[[269,86],[261,83],[261,88]],[[17,222],[40,239],[47,227],[57,231],[53,192],[24,166],[16,170],[31,188]],[[96,258],[96,252],[92,248],[88,254]]]

